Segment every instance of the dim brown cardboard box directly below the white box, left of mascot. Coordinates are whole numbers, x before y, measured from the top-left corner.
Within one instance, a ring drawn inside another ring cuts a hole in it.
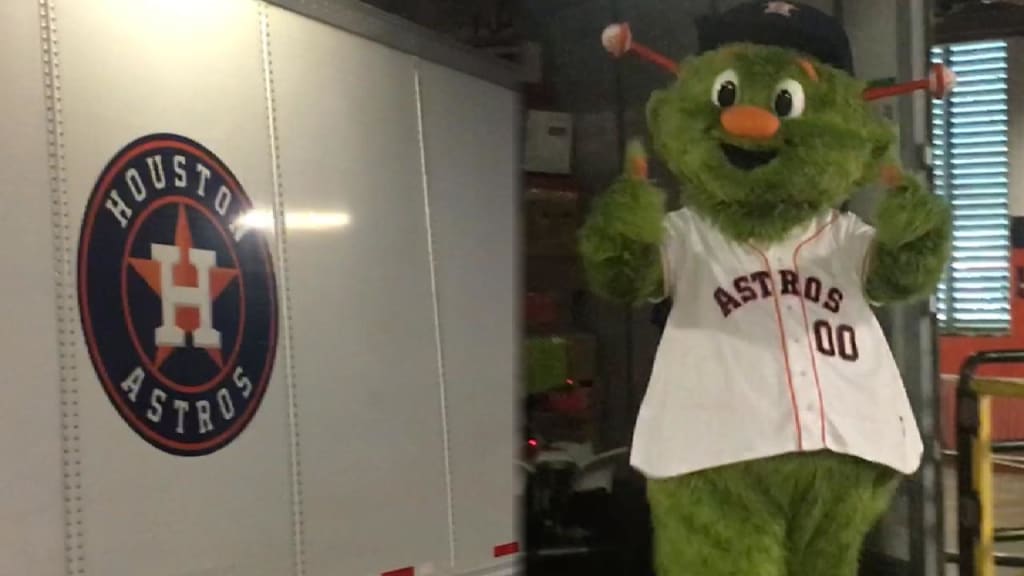
[[[526,253],[564,256],[577,252],[580,196],[572,191],[526,192]]]

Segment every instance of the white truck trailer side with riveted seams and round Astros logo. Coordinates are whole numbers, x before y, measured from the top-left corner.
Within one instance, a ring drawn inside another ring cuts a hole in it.
[[[508,71],[327,0],[0,46],[0,576],[518,573]]]

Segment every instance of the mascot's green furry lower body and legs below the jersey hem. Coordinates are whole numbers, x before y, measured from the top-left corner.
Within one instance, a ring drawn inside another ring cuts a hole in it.
[[[898,476],[831,453],[648,485],[658,576],[855,576]]]

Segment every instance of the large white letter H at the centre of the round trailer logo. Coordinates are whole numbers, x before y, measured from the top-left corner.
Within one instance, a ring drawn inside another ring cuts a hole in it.
[[[196,266],[197,285],[177,286],[174,284],[174,266],[181,258],[181,249],[166,244],[154,244],[151,249],[153,259],[160,262],[163,320],[156,330],[157,345],[185,345],[185,332],[176,323],[176,312],[179,306],[187,306],[199,311],[199,326],[193,331],[193,345],[219,348],[220,332],[213,329],[213,298],[210,297],[210,269],[217,261],[217,253],[189,247],[188,260]]]

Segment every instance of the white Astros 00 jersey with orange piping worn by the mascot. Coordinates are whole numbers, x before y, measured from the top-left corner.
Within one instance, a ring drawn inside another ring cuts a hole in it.
[[[828,211],[769,246],[668,215],[672,313],[633,439],[649,478],[827,449],[913,472],[923,451],[866,301],[874,231]]]

